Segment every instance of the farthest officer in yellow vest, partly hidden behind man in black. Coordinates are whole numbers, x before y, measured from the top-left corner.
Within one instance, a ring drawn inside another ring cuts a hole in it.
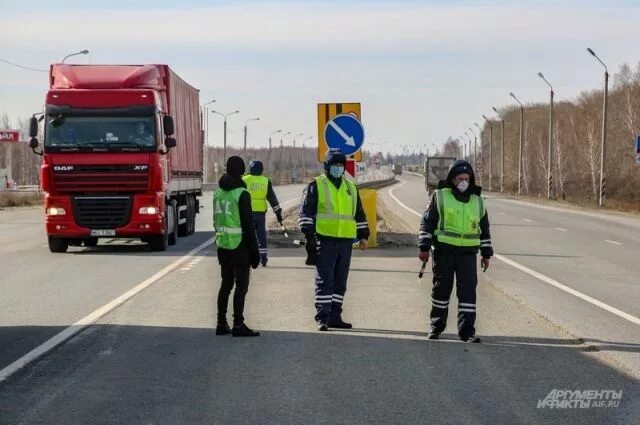
[[[262,175],[264,166],[262,161],[253,160],[249,162],[249,174],[243,177],[247,184],[247,190],[251,194],[251,209],[253,210],[253,224],[258,236],[258,250],[260,251],[260,263],[267,266],[267,202],[271,204],[273,213],[282,225],[282,208],[278,203],[278,198],[273,191],[271,180]]]

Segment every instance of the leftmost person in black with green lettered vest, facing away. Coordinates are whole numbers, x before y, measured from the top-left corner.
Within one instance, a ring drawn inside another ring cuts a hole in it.
[[[222,284],[218,292],[216,335],[259,336],[244,323],[244,301],[249,289],[250,267],[260,263],[258,241],[253,228],[251,195],[242,180],[245,167],[239,156],[227,161],[227,172],[213,194],[213,226],[216,231]],[[233,329],[227,322],[227,306],[233,287]]]

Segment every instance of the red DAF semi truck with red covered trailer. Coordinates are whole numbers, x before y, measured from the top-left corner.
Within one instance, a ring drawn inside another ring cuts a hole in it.
[[[51,252],[104,237],[164,251],[192,234],[202,195],[198,90],[167,65],[54,64],[49,83],[29,143],[43,156]]]

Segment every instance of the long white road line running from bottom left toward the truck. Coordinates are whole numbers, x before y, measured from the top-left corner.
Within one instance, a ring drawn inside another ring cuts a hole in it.
[[[114,309],[116,309],[117,307],[121,306],[122,304],[124,304],[125,302],[127,302],[128,300],[133,298],[135,295],[137,295],[141,291],[145,290],[149,286],[151,286],[154,283],[158,282],[160,279],[162,279],[163,277],[165,277],[166,275],[171,273],[173,270],[175,270],[178,267],[180,267],[181,265],[183,265],[185,262],[187,262],[189,259],[191,259],[194,255],[198,254],[200,251],[203,251],[206,248],[208,248],[209,246],[211,246],[211,244],[213,243],[213,240],[214,240],[214,238],[208,239],[206,242],[204,242],[200,246],[192,249],[191,251],[189,251],[188,254],[186,254],[185,256],[175,260],[173,263],[169,264],[164,269],[160,270],[159,272],[157,272],[156,274],[154,274],[150,278],[148,278],[145,281],[141,282],[136,287],[130,289],[129,291],[125,292],[124,294],[120,295],[119,297],[111,300],[110,302],[108,302],[107,304],[105,304],[102,307],[98,308],[94,312],[89,313],[88,315],[86,315],[82,319],[78,320],[77,322],[75,322],[74,324],[69,326],[68,328],[64,329],[63,331],[61,331],[58,334],[54,335],[53,337],[51,337],[47,341],[43,342],[42,344],[40,344],[39,346],[34,348],[33,350],[29,351],[24,356],[22,356],[19,359],[15,360],[13,363],[8,365],[4,369],[0,370],[0,382],[6,380],[8,377],[10,377],[14,373],[16,373],[18,370],[22,369],[23,367],[25,367],[29,363],[31,363],[34,360],[36,360],[38,357],[48,353],[49,351],[51,351],[52,349],[54,349],[58,345],[64,343],[65,341],[67,341],[71,337],[77,335],[79,332],[81,332],[82,330],[84,330],[88,326],[90,326],[93,323],[95,323],[97,320],[99,320],[101,317],[103,317],[107,313],[113,311]]]

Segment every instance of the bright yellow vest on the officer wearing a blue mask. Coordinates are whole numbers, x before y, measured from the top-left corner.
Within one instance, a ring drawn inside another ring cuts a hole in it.
[[[343,177],[338,189],[324,174],[316,177],[316,184],[318,186],[316,233],[334,238],[355,238],[355,215],[358,205],[356,185]]]

